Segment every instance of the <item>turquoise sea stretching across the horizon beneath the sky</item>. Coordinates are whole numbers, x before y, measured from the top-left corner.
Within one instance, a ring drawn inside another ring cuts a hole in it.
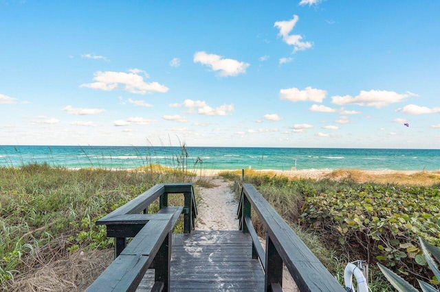
[[[440,149],[0,146],[0,166],[47,162],[69,168],[134,169],[150,163],[188,169],[440,169]]]

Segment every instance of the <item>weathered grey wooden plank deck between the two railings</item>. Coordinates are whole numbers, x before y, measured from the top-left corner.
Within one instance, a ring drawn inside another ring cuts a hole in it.
[[[173,234],[171,291],[264,291],[264,273],[252,259],[252,239],[239,230]],[[148,270],[137,291],[151,291]]]

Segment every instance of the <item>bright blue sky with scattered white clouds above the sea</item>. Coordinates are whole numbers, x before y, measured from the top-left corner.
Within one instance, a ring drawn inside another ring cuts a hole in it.
[[[440,149],[440,1],[0,0],[0,145]]]

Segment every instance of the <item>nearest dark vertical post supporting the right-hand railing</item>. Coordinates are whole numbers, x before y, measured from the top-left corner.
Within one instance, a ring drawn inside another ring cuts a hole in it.
[[[283,260],[278,254],[269,234],[266,234],[266,270],[265,291],[272,291],[272,284],[280,284],[283,287]]]

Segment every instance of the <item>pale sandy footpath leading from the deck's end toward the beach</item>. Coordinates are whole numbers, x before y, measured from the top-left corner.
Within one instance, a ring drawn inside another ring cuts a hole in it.
[[[238,230],[236,211],[239,203],[232,192],[231,182],[217,176],[206,176],[214,188],[199,188],[201,204],[197,206],[196,230]],[[265,239],[260,239],[263,248]],[[283,291],[299,291],[287,268],[283,270]]]

